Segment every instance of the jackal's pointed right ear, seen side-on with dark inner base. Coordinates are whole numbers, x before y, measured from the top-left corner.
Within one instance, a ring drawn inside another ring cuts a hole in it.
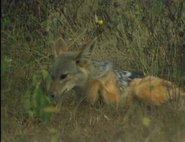
[[[91,61],[91,55],[96,43],[97,37],[95,37],[91,42],[85,45],[81,51],[77,54],[76,63],[79,65],[86,65]]]

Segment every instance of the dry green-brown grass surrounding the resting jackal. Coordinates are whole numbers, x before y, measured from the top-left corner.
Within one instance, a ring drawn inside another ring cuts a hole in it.
[[[47,124],[22,104],[25,92],[34,91],[33,77],[41,67],[50,72],[51,47],[58,37],[78,50],[97,36],[94,59],[185,86],[184,9],[183,0],[2,1],[1,140],[185,141],[185,112],[175,104],[155,108],[136,101],[128,110],[86,103],[77,107],[70,92],[60,98],[60,112],[52,113]],[[95,15],[103,24],[96,23]],[[47,82],[40,81],[46,94]]]

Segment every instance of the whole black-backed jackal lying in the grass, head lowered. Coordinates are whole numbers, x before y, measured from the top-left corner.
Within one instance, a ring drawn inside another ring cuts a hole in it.
[[[95,41],[96,38],[77,52],[68,51],[62,38],[56,41],[51,97],[73,89],[78,99],[85,97],[92,105],[101,95],[106,104],[118,106],[126,97],[130,101],[137,97],[159,106],[173,97],[185,96],[182,88],[164,79],[116,70],[109,61],[91,60]]]

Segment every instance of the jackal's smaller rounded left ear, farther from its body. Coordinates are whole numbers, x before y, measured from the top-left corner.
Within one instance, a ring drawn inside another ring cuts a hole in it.
[[[66,43],[62,38],[57,39],[54,43],[54,56],[55,58],[67,51]]]

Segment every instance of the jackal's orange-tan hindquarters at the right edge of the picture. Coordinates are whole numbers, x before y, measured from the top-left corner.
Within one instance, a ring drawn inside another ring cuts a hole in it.
[[[153,76],[133,79],[128,90],[130,100],[137,97],[155,106],[160,106],[169,99],[185,96],[183,89],[174,83]]]

